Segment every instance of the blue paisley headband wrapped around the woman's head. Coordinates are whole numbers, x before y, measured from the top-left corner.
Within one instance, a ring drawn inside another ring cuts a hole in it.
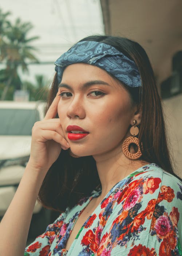
[[[88,63],[104,69],[130,87],[142,86],[141,77],[134,61],[128,59],[111,45],[95,41],[78,42],[63,53],[54,63],[58,72],[58,83],[64,68],[74,63]]]

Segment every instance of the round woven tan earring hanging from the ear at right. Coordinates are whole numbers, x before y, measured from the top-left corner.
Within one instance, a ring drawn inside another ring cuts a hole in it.
[[[136,126],[137,121],[133,120],[133,123],[134,123],[134,126],[132,126],[130,128],[130,133],[132,136],[130,136],[124,140],[123,145],[122,145],[122,150],[123,150],[123,154],[125,155],[125,157],[127,157],[131,160],[136,160],[142,156],[142,153],[141,153],[141,149],[140,149],[140,145],[139,145],[139,139],[137,137],[134,137],[134,136],[137,136],[139,133],[139,129]],[[134,153],[134,154],[130,153],[130,151],[129,151],[130,144],[135,144],[137,146],[138,150],[136,153]]]

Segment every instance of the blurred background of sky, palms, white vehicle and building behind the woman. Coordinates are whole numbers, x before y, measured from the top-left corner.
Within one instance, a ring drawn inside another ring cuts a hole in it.
[[[139,42],[154,69],[175,172],[182,177],[181,0],[1,0],[0,216],[29,158],[31,129],[44,117],[54,61],[81,38],[119,35]],[[29,239],[55,214],[37,202]]]

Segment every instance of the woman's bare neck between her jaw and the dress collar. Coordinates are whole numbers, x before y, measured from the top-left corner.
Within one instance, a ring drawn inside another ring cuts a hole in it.
[[[93,157],[102,185],[101,198],[104,198],[117,182],[146,164],[146,162],[126,158],[120,149],[102,155],[93,155]]]

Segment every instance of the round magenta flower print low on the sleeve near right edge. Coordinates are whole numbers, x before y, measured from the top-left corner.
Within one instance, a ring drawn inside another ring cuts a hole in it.
[[[170,222],[166,215],[160,216],[155,222],[155,230],[160,238],[165,237],[170,232]]]

